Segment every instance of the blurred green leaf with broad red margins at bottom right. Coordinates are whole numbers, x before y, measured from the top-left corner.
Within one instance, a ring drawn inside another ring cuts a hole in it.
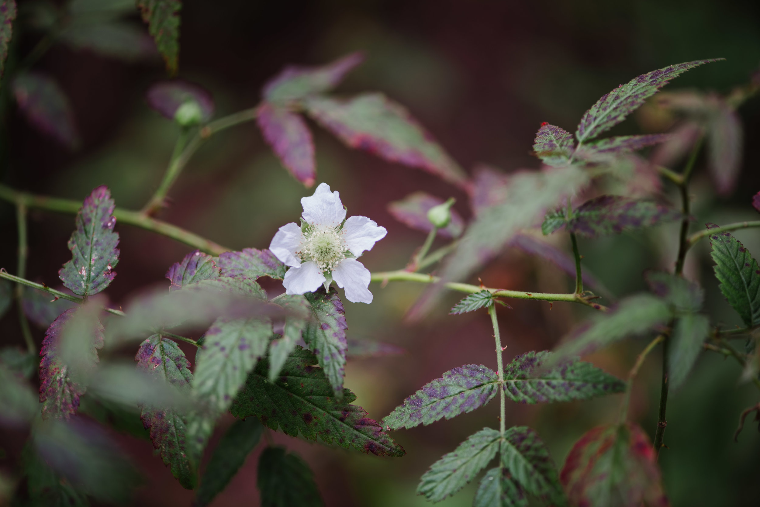
[[[657,455],[638,424],[597,426],[575,442],[559,475],[571,505],[667,507]]]

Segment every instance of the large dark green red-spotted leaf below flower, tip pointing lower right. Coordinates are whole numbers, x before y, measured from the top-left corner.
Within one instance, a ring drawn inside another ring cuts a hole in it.
[[[356,400],[344,388],[337,398],[324,369],[314,366],[311,351],[296,346],[275,382],[269,382],[269,360],[258,362],[248,376],[230,410],[235,417],[258,417],[271,429],[306,439],[317,438],[344,448],[378,456],[403,456],[404,449],[383,432],[366,410],[350,403]]]

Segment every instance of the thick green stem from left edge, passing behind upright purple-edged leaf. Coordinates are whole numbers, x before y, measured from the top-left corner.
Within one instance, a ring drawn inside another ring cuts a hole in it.
[[[27,194],[26,192],[19,192],[15,189],[11,189],[6,185],[0,185],[0,199],[13,203],[22,203],[27,206],[27,208],[36,208],[66,214],[77,214],[82,207],[81,201]],[[218,245],[209,239],[198,236],[198,234],[191,233],[181,227],[176,227],[171,223],[147,217],[139,211],[116,208],[113,211],[113,216],[116,217],[116,220],[120,223],[140,227],[144,230],[150,230],[212,255],[220,255],[223,252],[230,251],[230,249],[225,246]]]

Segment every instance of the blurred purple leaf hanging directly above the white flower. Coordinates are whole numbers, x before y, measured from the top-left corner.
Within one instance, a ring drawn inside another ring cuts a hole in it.
[[[285,169],[307,188],[314,185],[317,177],[314,141],[302,117],[285,107],[264,102],[258,106],[256,122]]]

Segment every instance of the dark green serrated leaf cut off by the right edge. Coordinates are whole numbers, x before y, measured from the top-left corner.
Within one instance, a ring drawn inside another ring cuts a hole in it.
[[[708,223],[708,229],[718,227]],[[730,233],[710,235],[715,277],[728,304],[748,328],[760,325],[760,268],[749,250]]]

